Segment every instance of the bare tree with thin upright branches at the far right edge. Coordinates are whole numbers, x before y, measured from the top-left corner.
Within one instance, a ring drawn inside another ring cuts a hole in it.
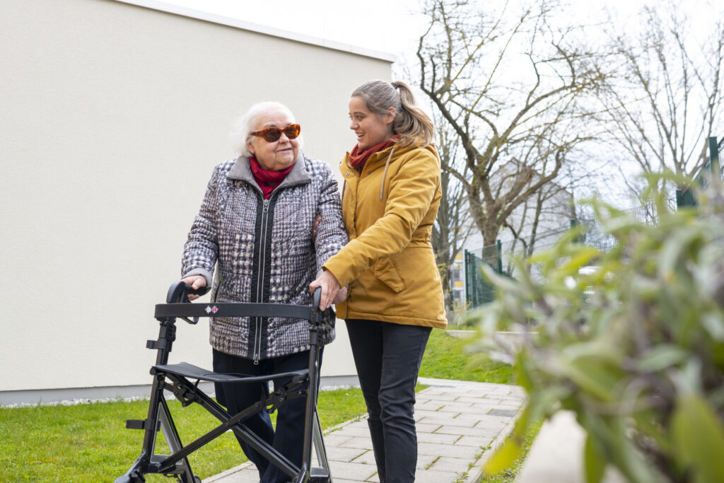
[[[644,7],[637,35],[612,33],[622,66],[604,97],[618,146],[643,172],[693,176],[723,122],[724,20],[697,31],[675,4]],[[636,183],[631,190],[639,190]]]

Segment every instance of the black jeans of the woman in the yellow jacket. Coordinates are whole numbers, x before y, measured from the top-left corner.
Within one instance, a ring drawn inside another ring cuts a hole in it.
[[[415,481],[415,385],[430,327],[348,319],[380,483]]]

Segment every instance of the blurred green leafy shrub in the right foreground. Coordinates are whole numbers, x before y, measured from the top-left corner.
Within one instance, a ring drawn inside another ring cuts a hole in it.
[[[529,392],[487,471],[515,459],[530,424],[566,409],[587,432],[588,482],[607,464],[630,482],[724,482],[724,197],[700,193],[696,211],[671,211],[654,188],[646,198],[655,224],[591,202],[613,250],[578,244],[573,230],[518,261],[517,280],[486,272],[500,290],[478,314],[483,332],[528,332],[488,349]]]

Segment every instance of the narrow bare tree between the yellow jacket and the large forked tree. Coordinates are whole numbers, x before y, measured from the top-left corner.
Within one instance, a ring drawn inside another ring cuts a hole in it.
[[[450,128],[443,123],[437,122],[435,126],[437,151],[442,167],[440,175],[442,198],[437,218],[432,226],[432,248],[435,251],[435,259],[442,279],[445,308],[447,308],[447,314],[452,314],[452,269],[455,257],[463,250],[471,235],[473,224],[470,220],[463,185],[450,175],[451,170],[466,171],[464,162],[460,162],[458,137],[451,133]]]

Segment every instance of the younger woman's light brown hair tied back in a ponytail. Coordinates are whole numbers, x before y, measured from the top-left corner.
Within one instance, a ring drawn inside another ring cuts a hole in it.
[[[379,117],[387,109],[395,108],[392,133],[399,134],[397,146],[427,146],[433,143],[434,124],[425,112],[417,106],[409,85],[402,80],[389,83],[386,80],[369,80],[352,93],[360,97],[365,107]]]

